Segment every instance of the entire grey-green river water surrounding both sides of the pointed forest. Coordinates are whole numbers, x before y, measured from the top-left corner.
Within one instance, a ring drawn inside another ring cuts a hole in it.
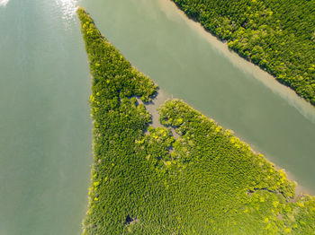
[[[315,109],[169,0],[83,0],[165,96],[183,99],[315,192]],[[2,6],[1,6],[2,5]],[[73,0],[0,0],[0,234],[79,234],[90,76]]]

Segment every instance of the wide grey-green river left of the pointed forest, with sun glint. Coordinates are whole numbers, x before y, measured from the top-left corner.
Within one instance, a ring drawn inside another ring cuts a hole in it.
[[[93,158],[75,5],[0,3],[0,234],[80,234]]]

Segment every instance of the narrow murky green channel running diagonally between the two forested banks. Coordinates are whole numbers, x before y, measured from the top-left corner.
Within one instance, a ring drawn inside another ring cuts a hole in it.
[[[315,192],[315,109],[190,21],[170,0],[83,1],[98,28],[161,90],[232,129]]]

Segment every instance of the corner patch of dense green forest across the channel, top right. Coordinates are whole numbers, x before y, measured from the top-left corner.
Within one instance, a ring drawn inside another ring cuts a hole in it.
[[[314,0],[173,0],[184,13],[315,105]]]

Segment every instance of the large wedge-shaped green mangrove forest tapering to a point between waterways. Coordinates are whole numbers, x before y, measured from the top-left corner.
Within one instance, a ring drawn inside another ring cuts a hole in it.
[[[94,164],[83,234],[312,234],[315,201],[229,130],[157,86],[78,16],[93,76]],[[172,135],[171,128],[179,135]]]

